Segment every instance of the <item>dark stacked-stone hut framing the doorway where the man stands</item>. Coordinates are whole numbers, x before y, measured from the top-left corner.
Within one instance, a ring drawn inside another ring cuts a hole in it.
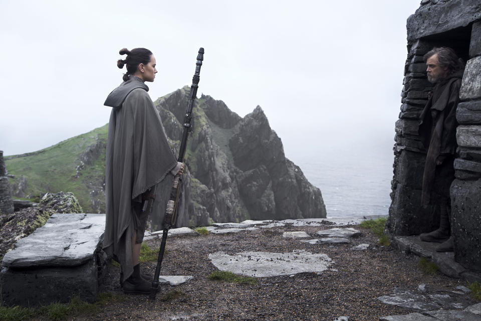
[[[390,236],[418,235],[439,225],[437,211],[419,215],[426,150],[418,136],[419,115],[432,85],[423,55],[451,47],[466,62],[456,110],[455,180],[451,184],[454,259],[481,270],[481,2],[422,0],[407,20],[407,59],[402,105],[396,122],[394,179],[386,229]]]

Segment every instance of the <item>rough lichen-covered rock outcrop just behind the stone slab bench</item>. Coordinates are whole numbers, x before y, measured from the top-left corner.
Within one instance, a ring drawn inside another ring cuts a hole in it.
[[[72,193],[46,195],[36,207],[0,216],[0,260],[15,242],[43,226],[54,213],[82,213]]]

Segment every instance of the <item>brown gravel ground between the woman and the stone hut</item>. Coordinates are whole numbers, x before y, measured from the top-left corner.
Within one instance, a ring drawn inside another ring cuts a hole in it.
[[[143,295],[122,294],[119,269],[110,265],[101,291],[124,296],[121,302],[106,305],[95,316],[81,315],[72,320],[329,320],[349,316],[349,321],[378,320],[380,316],[406,314],[411,310],[387,305],[377,297],[390,295],[394,287],[410,290],[425,283],[452,290],[462,282],[444,275],[425,275],[417,267],[416,256],[375,245],[376,237],[367,229],[356,227],[362,236],[351,244],[324,245],[285,239],[285,231],[315,233],[322,227],[276,227],[207,236],[179,236],[167,240],[161,275],[193,275],[191,281],[178,285],[161,285],[155,301]],[[361,243],[371,246],[365,251],[351,248]],[[159,247],[160,240],[147,244]],[[224,251],[292,252],[304,249],[324,253],[334,263],[322,273],[299,273],[294,276],[258,278],[258,283],[235,284],[208,279],[216,267],[208,254]],[[142,271],[153,275],[156,262],[142,263]],[[337,271],[336,271],[337,270]],[[165,293],[180,290],[180,297],[162,301]]]

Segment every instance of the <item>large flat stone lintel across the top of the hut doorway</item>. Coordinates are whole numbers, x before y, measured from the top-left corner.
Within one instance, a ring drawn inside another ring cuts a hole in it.
[[[481,19],[481,2],[463,0],[421,6],[407,19],[407,41],[440,34]]]

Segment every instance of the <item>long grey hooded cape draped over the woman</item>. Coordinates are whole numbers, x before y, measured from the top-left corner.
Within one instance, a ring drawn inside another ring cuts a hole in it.
[[[113,109],[105,157],[106,222],[103,248],[121,264],[122,281],[133,272],[135,213],[132,205],[139,201],[140,195],[147,189],[164,178],[167,181],[166,177],[172,178],[169,172],[177,165],[160,116],[147,90],[142,81],[132,77],[114,89],[105,101],[105,105]],[[169,183],[171,186],[172,181]]]

